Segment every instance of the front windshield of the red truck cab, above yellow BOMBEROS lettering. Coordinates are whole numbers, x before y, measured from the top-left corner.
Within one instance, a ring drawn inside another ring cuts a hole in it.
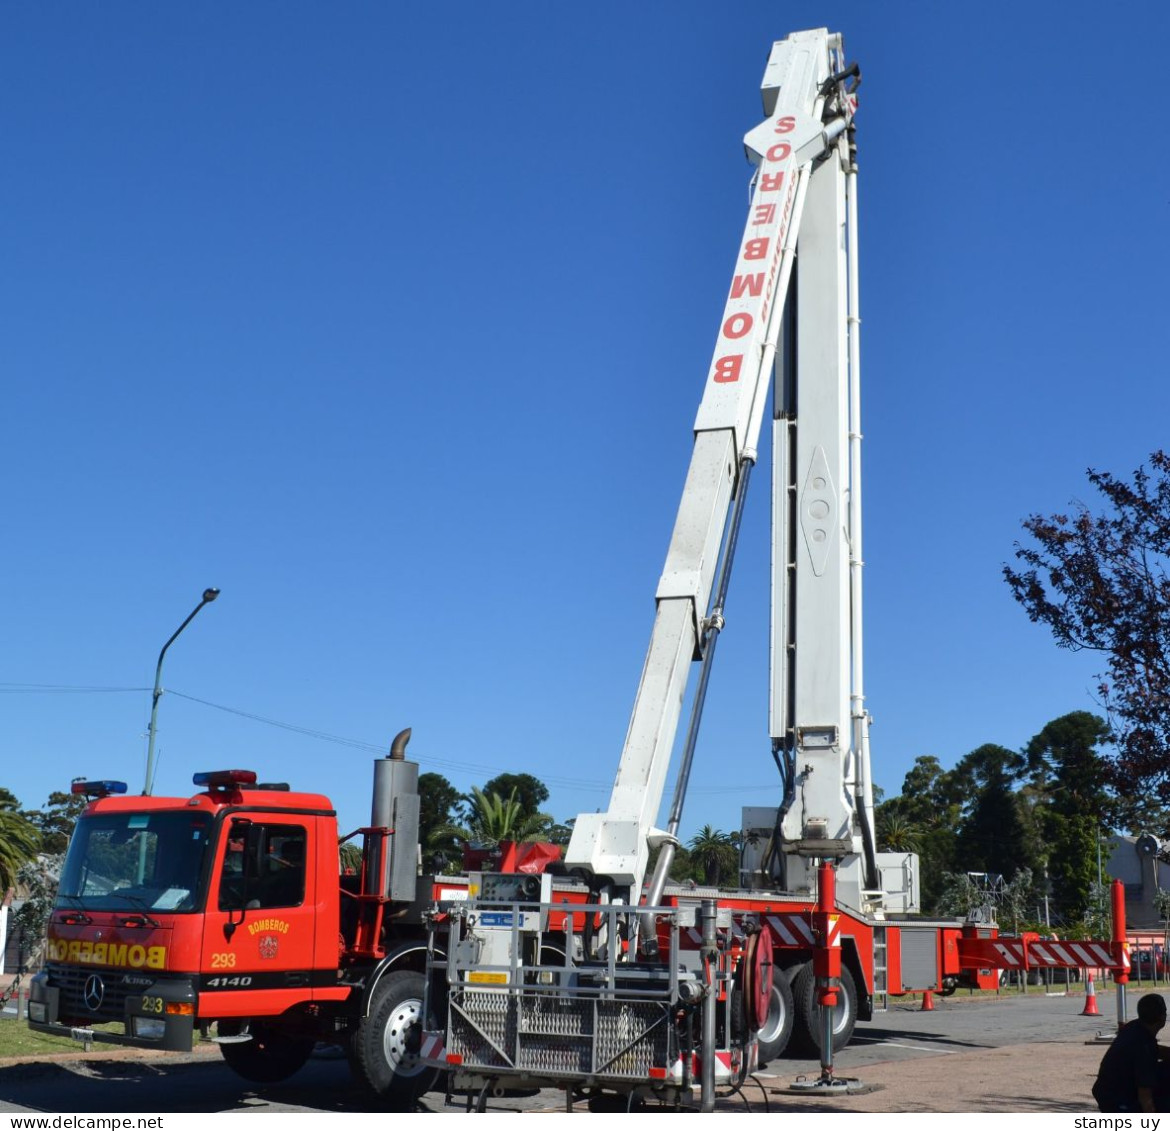
[[[98,813],[77,822],[58,906],[193,911],[209,840],[206,813]]]

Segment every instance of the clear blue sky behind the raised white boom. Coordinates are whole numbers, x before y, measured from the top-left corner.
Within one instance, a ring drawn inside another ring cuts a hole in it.
[[[253,767],[355,828],[412,726],[460,788],[604,806],[741,139],[818,26],[863,73],[875,778],[1094,709],[1000,568],[1166,442],[1166,5],[7,4],[0,785],[140,788],[215,585],[157,792]],[[684,835],[777,788],[763,485]]]

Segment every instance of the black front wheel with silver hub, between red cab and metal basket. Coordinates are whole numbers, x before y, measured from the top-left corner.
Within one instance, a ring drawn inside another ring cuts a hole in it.
[[[413,1108],[439,1075],[418,1057],[425,985],[413,970],[386,974],[350,1047],[355,1076],[399,1110]]]

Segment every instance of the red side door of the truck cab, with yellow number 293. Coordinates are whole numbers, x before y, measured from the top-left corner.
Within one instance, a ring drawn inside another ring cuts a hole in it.
[[[204,1016],[257,1016],[308,1000],[316,930],[315,825],[230,818],[220,829],[200,964]]]

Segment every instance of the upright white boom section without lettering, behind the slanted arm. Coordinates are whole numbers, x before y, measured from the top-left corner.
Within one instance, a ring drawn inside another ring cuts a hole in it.
[[[780,850],[865,854],[874,887],[861,689],[855,193],[842,144],[810,175],[790,349],[773,399],[770,719],[787,768]]]

